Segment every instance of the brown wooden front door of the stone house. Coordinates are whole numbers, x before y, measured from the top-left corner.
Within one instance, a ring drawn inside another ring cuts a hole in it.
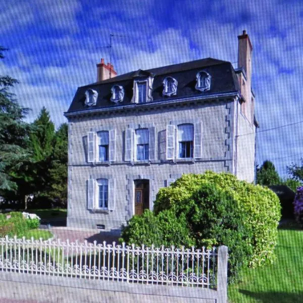
[[[149,209],[149,180],[135,180],[135,215]]]

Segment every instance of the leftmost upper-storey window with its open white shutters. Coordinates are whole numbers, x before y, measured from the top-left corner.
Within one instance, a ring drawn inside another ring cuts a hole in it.
[[[87,162],[116,161],[116,130],[100,127],[87,133]]]

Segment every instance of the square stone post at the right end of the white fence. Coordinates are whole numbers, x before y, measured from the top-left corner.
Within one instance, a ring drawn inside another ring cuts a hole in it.
[[[217,292],[218,303],[227,302],[227,246],[221,245],[218,249]]]

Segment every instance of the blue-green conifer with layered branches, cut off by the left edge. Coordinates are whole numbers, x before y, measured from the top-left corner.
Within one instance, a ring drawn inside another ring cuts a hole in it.
[[[6,50],[0,46],[0,59],[4,58]],[[17,191],[14,174],[30,163],[28,138],[31,127],[22,121],[29,109],[22,108],[9,92],[16,83],[16,79],[0,75],[0,195],[4,197],[9,191]]]

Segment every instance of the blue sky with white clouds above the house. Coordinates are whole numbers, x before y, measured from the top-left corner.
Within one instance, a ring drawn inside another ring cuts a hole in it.
[[[254,47],[257,160],[286,165],[303,157],[303,2],[1,0],[0,45],[10,49],[0,74],[20,81],[13,92],[32,112],[43,106],[58,127],[78,86],[96,80],[96,64],[119,74],[213,57],[236,67],[237,35]]]

